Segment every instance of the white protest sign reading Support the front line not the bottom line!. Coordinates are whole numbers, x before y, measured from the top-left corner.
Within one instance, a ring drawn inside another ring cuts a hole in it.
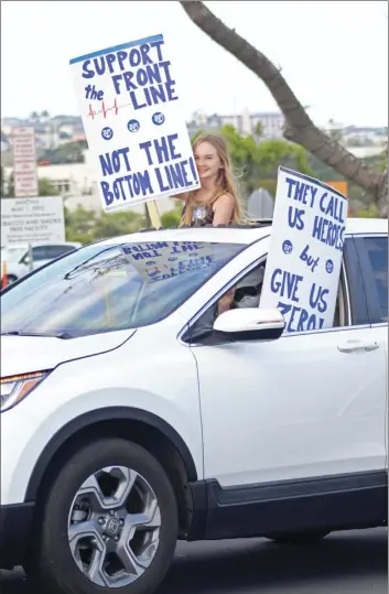
[[[106,212],[199,187],[162,34],[71,60]]]

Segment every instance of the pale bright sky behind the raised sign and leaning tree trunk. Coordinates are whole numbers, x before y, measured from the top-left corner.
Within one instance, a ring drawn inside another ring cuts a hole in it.
[[[388,3],[217,1],[206,4],[264,52],[320,125],[387,126]],[[252,73],[210,41],[176,1],[4,1],[1,114],[77,114],[69,60],[163,33],[187,118],[275,110]]]

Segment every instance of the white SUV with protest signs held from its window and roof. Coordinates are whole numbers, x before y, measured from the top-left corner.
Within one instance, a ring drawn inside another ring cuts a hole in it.
[[[177,539],[387,525],[387,222],[348,222],[331,330],[258,307],[270,235],[139,233],[2,292],[2,566],[150,594]]]

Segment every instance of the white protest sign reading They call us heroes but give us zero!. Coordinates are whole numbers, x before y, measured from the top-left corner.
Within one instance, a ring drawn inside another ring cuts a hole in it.
[[[277,307],[285,332],[334,322],[347,198],[307,175],[279,168],[260,307]]]

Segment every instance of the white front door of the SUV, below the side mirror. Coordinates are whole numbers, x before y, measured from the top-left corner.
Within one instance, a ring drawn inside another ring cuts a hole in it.
[[[192,341],[206,478],[238,487],[385,467],[386,353],[358,267],[347,239],[341,322],[331,330],[273,342]],[[353,299],[352,289],[359,290]]]

